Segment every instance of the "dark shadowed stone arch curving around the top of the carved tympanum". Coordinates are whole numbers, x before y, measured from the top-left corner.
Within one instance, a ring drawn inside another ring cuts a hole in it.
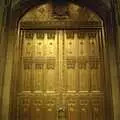
[[[72,0],[70,0],[72,1]],[[17,3],[15,3],[12,7],[12,16],[11,21],[12,24],[17,25],[17,22],[20,20],[20,18],[31,8],[46,3],[47,0],[26,0],[22,1],[19,0]],[[95,12],[103,21],[106,20],[106,17],[108,14],[110,14],[110,7],[106,3],[104,3],[102,0],[96,1],[96,0],[74,0],[72,1],[74,4],[78,4],[80,6],[85,6],[89,9],[91,9],[93,12]],[[12,25],[11,24],[11,25]]]

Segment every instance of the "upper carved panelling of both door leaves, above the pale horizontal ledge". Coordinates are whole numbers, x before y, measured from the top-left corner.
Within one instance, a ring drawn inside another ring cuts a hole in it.
[[[55,91],[59,84],[67,91],[101,91],[104,77],[98,38],[96,31],[26,31],[23,57],[31,59],[34,67],[23,72],[25,82],[30,81],[34,90]]]

